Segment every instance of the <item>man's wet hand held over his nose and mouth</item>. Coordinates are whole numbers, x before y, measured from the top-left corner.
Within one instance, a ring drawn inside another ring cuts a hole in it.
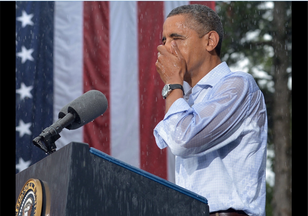
[[[183,85],[186,62],[176,42],[171,41],[171,52],[165,45],[159,45],[157,50],[156,70],[161,80],[165,84]]]

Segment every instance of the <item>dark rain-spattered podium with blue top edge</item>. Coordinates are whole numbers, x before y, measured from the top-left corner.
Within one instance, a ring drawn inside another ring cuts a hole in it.
[[[69,143],[16,174],[16,203],[29,179],[42,183],[42,216],[209,215],[206,198],[87,143]]]

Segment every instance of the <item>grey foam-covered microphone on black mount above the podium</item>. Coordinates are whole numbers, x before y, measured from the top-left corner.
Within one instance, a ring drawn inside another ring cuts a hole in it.
[[[59,112],[59,119],[50,127],[45,128],[32,142],[46,153],[51,154],[55,152],[55,141],[61,137],[59,133],[63,128],[69,130],[80,128],[103,115],[107,107],[106,96],[100,91],[90,90],[65,105]],[[42,141],[46,143],[46,146]]]

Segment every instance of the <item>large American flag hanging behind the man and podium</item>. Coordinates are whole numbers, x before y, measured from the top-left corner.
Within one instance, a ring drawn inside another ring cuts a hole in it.
[[[32,140],[60,109],[92,89],[108,100],[103,116],[63,129],[57,149],[88,143],[174,182],[174,156],[160,150],[153,129],[164,117],[156,72],[167,14],[202,1],[16,2],[16,173],[47,155]]]

